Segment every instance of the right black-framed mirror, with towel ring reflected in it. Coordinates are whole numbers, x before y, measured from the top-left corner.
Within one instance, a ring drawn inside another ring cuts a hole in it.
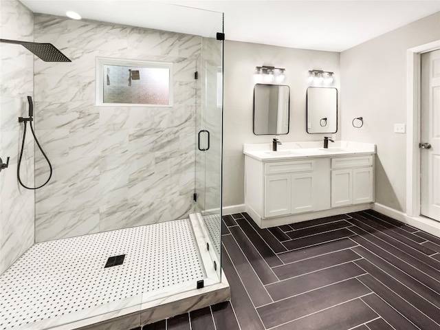
[[[338,131],[338,89],[307,88],[307,133],[336,133],[336,131]]]

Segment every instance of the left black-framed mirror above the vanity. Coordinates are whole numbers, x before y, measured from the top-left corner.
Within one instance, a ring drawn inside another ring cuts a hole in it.
[[[256,84],[254,87],[254,134],[289,133],[290,87]]]

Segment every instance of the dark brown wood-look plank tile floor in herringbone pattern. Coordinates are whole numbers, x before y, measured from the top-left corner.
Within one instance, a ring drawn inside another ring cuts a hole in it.
[[[260,229],[223,217],[231,300],[151,329],[440,329],[440,239],[373,210]]]

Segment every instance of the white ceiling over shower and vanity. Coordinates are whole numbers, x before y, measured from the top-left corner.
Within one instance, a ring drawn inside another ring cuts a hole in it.
[[[215,36],[221,30],[217,12],[224,12],[226,40],[331,52],[342,52],[440,11],[439,0],[21,2],[33,12],[63,16],[74,10],[85,19],[203,36]]]

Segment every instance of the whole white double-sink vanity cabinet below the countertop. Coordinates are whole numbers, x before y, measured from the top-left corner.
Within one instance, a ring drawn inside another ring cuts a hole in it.
[[[263,157],[245,155],[246,212],[261,228],[365,210],[374,201],[372,153]]]

